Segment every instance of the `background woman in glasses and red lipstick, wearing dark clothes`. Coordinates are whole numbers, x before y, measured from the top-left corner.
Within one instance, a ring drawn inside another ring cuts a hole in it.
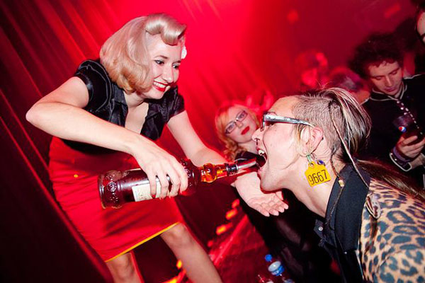
[[[259,157],[256,141],[252,139],[252,134],[259,127],[256,113],[242,103],[228,101],[215,115],[215,130],[225,146],[224,153],[229,161]],[[242,200],[246,200],[243,187],[238,192]],[[285,192],[285,202],[288,202],[289,209],[269,218],[251,209],[246,202],[241,204],[268,249],[273,255],[283,258],[295,281],[334,281],[336,275],[329,271],[329,255],[317,248],[317,237],[307,233],[314,227],[313,214],[291,192]]]

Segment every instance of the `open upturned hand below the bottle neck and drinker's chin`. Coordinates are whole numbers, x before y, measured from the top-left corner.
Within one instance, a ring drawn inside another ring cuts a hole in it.
[[[283,202],[281,190],[278,192],[263,192],[261,190],[260,179],[256,172],[239,176],[234,185],[242,200],[264,216],[279,215],[279,212],[288,209],[288,204]]]

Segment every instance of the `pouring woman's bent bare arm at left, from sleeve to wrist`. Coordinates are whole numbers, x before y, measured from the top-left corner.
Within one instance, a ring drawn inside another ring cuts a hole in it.
[[[88,102],[86,85],[81,79],[72,77],[35,103],[26,118],[53,136],[131,154],[134,144],[140,142],[137,134],[81,109]]]

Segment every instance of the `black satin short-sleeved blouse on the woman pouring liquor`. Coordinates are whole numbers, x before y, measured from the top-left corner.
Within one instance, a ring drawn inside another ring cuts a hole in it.
[[[125,102],[123,88],[111,81],[101,63],[98,60],[86,60],[79,65],[74,76],[84,81],[89,91],[89,103],[84,110],[103,120],[124,127],[128,106]],[[177,87],[174,87],[166,91],[161,99],[145,101],[149,104],[149,108],[140,134],[155,140],[161,137],[162,130],[171,117],[183,112],[183,96],[178,93]],[[92,153],[108,151],[100,146],[65,139],[63,141],[79,151],[91,151]]]

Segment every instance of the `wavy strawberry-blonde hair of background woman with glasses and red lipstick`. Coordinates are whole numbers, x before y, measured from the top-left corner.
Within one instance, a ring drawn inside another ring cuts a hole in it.
[[[232,107],[239,107],[244,109],[252,119],[254,119],[256,126],[260,126],[260,122],[255,112],[248,108],[246,105],[239,103],[237,101],[227,101],[223,105],[218,108],[217,112],[215,112],[215,132],[217,133],[218,138],[225,146],[225,156],[228,160],[233,161],[235,156],[239,154],[239,152],[246,151],[244,147],[239,146],[236,141],[230,139],[227,134],[225,134],[225,129],[227,123],[229,122],[229,109]]]

